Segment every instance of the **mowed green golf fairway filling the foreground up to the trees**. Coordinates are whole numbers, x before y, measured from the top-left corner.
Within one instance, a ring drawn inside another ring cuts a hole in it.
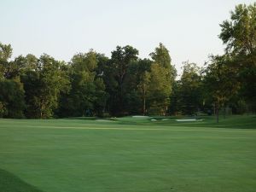
[[[0,191],[256,191],[255,116],[154,119],[0,119]]]

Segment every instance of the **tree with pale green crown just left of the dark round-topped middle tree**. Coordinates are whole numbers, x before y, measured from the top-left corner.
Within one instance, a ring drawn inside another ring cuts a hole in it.
[[[73,56],[69,72],[72,88],[62,97],[61,116],[86,116],[102,113],[107,95],[102,72],[96,73],[97,64],[97,54],[93,50]]]

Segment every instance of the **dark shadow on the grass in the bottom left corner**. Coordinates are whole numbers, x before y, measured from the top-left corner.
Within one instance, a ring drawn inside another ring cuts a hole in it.
[[[29,183],[20,179],[20,177],[0,169],[0,192],[43,192]]]

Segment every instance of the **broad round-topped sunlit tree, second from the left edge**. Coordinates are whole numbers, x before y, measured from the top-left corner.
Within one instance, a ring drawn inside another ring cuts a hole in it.
[[[33,58],[34,59],[34,58]],[[31,64],[28,62],[28,66]],[[26,90],[26,116],[45,119],[54,115],[61,92],[69,90],[69,79],[61,70],[64,62],[41,55],[35,70],[26,70],[22,83]]]

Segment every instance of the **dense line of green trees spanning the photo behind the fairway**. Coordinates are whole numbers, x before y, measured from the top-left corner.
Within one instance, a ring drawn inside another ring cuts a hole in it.
[[[204,67],[183,62],[180,79],[164,44],[149,59],[126,45],[110,58],[91,49],[69,62],[46,54],[11,60],[11,45],[0,44],[0,117],[254,113],[256,3],[237,5],[220,30],[224,55],[211,55]]]

